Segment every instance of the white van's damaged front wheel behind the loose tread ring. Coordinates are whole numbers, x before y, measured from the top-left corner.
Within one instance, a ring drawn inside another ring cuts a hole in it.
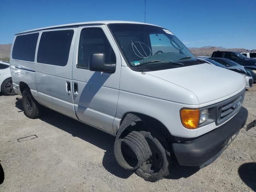
[[[150,132],[140,131],[140,133],[148,142],[152,156],[136,170],[136,174],[146,181],[156,182],[169,175],[169,161],[166,150]]]

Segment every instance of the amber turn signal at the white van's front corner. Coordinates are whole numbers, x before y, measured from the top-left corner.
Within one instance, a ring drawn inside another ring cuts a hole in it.
[[[196,129],[199,125],[199,109],[182,109],[180,110],[180,120],[182,125],[187,129]]]

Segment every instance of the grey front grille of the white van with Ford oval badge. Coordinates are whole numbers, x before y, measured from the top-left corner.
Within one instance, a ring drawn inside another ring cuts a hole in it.
[[[242,107],[245,90],[239,94],[217,104],[217,122],[216,125],[224,123],[234,116]]]

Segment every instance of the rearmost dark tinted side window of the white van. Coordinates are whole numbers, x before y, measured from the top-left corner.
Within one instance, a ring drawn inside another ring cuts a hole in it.
[[[23,61],[34,61],[36,43],[39,33],[16,36],[12,49],[12,58]]]

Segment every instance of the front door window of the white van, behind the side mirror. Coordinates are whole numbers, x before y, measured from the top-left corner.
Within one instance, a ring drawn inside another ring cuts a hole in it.
[[[90,54],[105,53],[105,62],[116,63],[116,55],[100,28],[86,28],[81,31],[78,47],[78,68],[88,69]]]

